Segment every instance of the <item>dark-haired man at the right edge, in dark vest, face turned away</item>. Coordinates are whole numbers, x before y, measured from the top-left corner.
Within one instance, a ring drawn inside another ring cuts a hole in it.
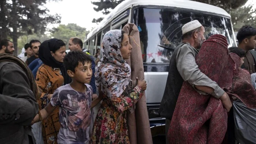
[[[249,73],[256,72],[256,29],[251,26],[243,26],[237,33],[238,48],[245,50],[246,56],[241,68]]]

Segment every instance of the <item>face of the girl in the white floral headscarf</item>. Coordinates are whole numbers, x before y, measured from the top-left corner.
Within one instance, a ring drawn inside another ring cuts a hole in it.
[[[132,46],[130,45],[129,37],[127,34],[124,34],[124,39],[121,42],[120,52],[124,60],[129,59],[131,56]]]

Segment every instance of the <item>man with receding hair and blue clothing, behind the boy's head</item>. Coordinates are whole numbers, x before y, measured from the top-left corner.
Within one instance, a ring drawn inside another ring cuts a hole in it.
[[[80,50],[83,51],[83,42],[80,38],[70,38],[68,41],[68,48],[73,51],[73,50]],[[88,54],[88,53],[87,53]],[[90,82],[90,86],[93,87],[93,95],[92,98],[95,99],[98,97],[98,95],[96,94],[96,86],[95,86],[95,62],[94,62],[94,58],[92,56],[90,56],[91,58],[91,64],[92,64],[92,69],[93,69],[93,76],[91,77],[91,82]]]

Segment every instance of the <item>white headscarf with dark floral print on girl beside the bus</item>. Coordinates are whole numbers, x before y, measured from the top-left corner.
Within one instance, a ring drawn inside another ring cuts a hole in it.
[[[119,97],[129,84],[131,68],[120,52],[121,30],[111,30],[102,39],[102,58],[96,68],[95,83],[108,97]]]

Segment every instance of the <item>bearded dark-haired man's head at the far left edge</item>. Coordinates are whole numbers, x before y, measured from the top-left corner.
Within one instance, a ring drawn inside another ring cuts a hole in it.
[[[13,54],[14,50],[14,45],[9,39],[2,39],[0,41],[0,53]]]

